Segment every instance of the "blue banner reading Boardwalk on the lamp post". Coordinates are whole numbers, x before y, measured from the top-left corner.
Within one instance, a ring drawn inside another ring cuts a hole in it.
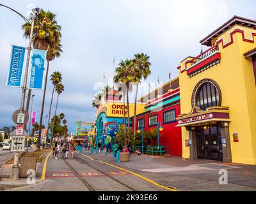
[[[26,48],[12,45],[10,69],[6,85],[8,87],[21,87],[22,69]]]

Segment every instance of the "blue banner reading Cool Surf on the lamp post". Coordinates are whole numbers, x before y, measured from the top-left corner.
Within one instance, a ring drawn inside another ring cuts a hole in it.
[[[29,89],[43,89],[45,58],[45,50],[32,50]]]

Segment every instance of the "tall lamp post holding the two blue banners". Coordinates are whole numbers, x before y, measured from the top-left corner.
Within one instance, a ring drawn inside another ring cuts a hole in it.
[[[0,6],[4,6],[5,8],[12,10],[13,12],[17,13],[20,17],[22,17],[22,19],[25,20],[28,24],[30,24],[29,20],[26,17],[24,17],[22,14],[20,14],[18,11],[15,11],[12,8],[5,6],[3,4],[0,4]],[[22,113],[22,114],[24,114],[24,105],[25,105],[25,97],[26,97],[27,81],[28,81],[29,59],[30,59],[30,52],[32,50],[31,45],[32,45],[33,29],[34,29],[35,20],[39,14],[39,10],[40,10],[39,8],[33,8],[33,10],[32,10],[33,18],[32,18],[32,24],[30,24],[31,30],[30,30],[30,36],[29,36],[28,55],[27,55],[27,61],[26,61],[24,82],[23,82],[23,86],[22,86],[22,97],[21,97],[21,104],[20,104],[20,113]],[[10,179],[19,179],[19,174],[20,174],[19,152],[15,152],[14,164],[12,167],[12,172],[10,174]]]

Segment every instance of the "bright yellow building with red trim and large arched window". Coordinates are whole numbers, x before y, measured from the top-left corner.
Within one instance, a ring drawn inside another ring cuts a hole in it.
[[[179,64],[182,157],[256,164],[256,21],[233,17]]]

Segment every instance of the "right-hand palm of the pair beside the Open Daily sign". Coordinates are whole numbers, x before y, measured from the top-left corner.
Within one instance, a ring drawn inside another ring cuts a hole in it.
[[[149,62],[149,56],[144,53],[135,54],[134,59],[132,61],[134,62],[134,66],[136,66],[138,70],[138,75],[134,77],[134,84],[136,85],[136,95],[135,95],[135,101],[134,101],[133,137],[135,139],[138,88],[139,88],[139,84],[141,83],[141,79],[144,78],[144,80],[146,80],[146,78],[148,78],[148,76],[151,74],[151,71],[150,71],[151,63]]]

